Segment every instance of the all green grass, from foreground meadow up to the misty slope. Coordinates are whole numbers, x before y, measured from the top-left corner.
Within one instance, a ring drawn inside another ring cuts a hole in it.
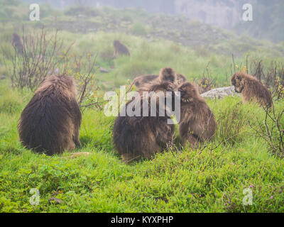
[[[158,154],[153,160],[125,165],[111,140],[114,118],[89,109],[83,114],[82,148],[76,150],[89,152],[89,156],[70,159],[70,154],[64,153],[48,157],[23,148],[18,141],[17,123],[33,94],[11,89],[2,57],[11,65],[11,34],[21,34],[22,22],[25,26],[32,23],[25,22],[25,11],[19,12],[18,6],[9,6],[7,2],[12,1],[0,0],[0,76],[7,77],[0,79],[1,212],[284,211],[284,161],[273,155],[249,127],[248,121],[264,119],[263,110],[253,104],[239,104],[239,97],[208,100],[218,129],[214,142],[202,151],[186,147]],[[209,64],[209,74],[221,87],[230,84],[231,69],[240,70],[247,55],[250,61],[263,60],[263,65],[270,65],[272,60],[283,62],[283,43],[239,37],[185,18],[151,16],[132,10],[83,10],[84,13],[75,14],[88,15],[87,18],[75,17],[71,9],[56,12],[41,7],[40,23],[48,28],[60,26],[63,31],[59,35],[65,46],[75,42],[70,54],[98,55],[97,65],[109,70],[107,74],[96,74],[102,93],[117,89],[138,75],[157,74],[165,66],[193,81],[203,77]],[[113,15],[117,15],[116,21]],[[33,25],[39,27],[40,23]],[[168,33],[168,27],[176,30]],[[131,57],[111,60],[115,39],[129,47]],[[235,65],[231,54],[236,56]],[[276,111],[283,108],[283,100],[275,103]],[[210,149],[224,140],[226,143]],[[33,188],[40,192],[38,206],[30,204],[29,192]],[[243,204],[246,188],[252,190],[252,206]],[[62,203],[49,203],[51,197]]]

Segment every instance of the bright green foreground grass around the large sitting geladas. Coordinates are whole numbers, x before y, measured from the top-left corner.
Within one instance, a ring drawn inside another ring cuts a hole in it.
[[[205,148],[161,153],[153,160],[125,165],[111,142],[113,117],[84,112],[77,152],[48,157],[24,149],[16,130],[21,110],[31,93],[0,89],[0,211],[1,212],[283,212],[284,161],[271,154],[247,121],[263,119],[257,106],[239,104],[239,97],[208,101],[219,128],[216,143],[225,135],[226,118],[237,114],[239,134],[215,150]],[[5,105],[4,105],[5,104]],[[275,104],[284,108],[284,102]],[[214,146],[212,144],[212,146]],[[40,204],[29,201],[39,189]],[[250,188],[253,205],[244,206],[243,190]],[[62,200],[51,204],[50,197]]]

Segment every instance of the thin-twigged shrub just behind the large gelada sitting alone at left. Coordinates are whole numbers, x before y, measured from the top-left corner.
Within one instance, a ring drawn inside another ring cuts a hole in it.
[[[7,66],[14,88],[27,87],[33,91],[65,60],[71,45],[64,50],[63,40],[58,38],[58,31],[49,36],[42,28],[35,35],[32,34],[25,35],[23,29],[23,52],[18,52],[15,48],[12,65]]]

